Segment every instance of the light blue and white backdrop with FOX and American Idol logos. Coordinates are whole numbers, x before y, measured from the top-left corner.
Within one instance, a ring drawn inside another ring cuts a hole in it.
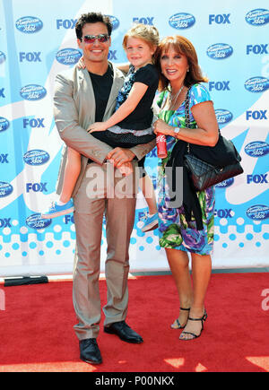
[[[112,18],[115,63],[126,62],[122,39],[133,22],[194,43],[222,134],[245,170],[216,188],[213,268],[268,266],[268,0],[1,0],[0,276],[72,273],[73,215],[41,221],[39,212],[53,197],[63,146],[52,115],[55,76],[82,55],[74,25],[90,11]],[[156,166],[153,150],[146,168],[154,184]],[[131,270],[166,270],[157,230],[140,229],[145,211],[139,194]],[[105,254],[104,223],[102,269]]]

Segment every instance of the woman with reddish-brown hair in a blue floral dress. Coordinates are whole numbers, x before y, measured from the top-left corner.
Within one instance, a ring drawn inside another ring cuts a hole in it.
[[[166,135],[168,148],[168,157],[159,162],[160,245],[166,250],[180,302],[179,316],[171,327],[184,328],[179,339],[191,340],[200,336],[207,317],[204,298],[212,271],[214,188],[196,194],[203,219],[203,230],[197,230],[195,218],[192,216],[188,221],[183,205],[169,207],[163,177],[178,140],[213,146],[218,141],[218,123],[213,101],[201,83],[207,82],[207,79],[201,73],[195,48],[188,39],[180,36],[162,39],[156,63],[161,74],[161,94],[158,100],[159,119],[154,124],[154,132]],[[190,128],[186,127],[185,119],[188,90]],[[187,252],[192,258],[193,285]]]

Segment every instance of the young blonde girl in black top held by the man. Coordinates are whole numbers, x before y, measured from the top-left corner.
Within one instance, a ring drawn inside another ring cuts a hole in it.
[[[131,148],[141,143],[149,143],[155,137],[152,132],[152,101],[159,83],[159,74],[152,64],[152,58],[159,43],[158,30],[153,26],[137,23],[127,31],[123,47],[130,62],[124,85],[117,96],[116,111],[105,122],[92,124],[88,131],[100,141],[112,147]],[[126,70],[125,67],[120,67]],[[116,126],[117,125],[117,126]],[[138,162],[142,172],[140,186],[149,206],[143,231],[156,229],[158,213],[151,179],[143,169],[145,157]],[[76,179],[81,169],[80,153],[68,148],[68,162],[65,166],[65,179],[59,202],[53,204],[42,218],[55,218],[74,211],[70,199]],[[119,168],[122,174],[132,172],[132,164],[126,163]],[[151,196],[148,196],[152,188]]]

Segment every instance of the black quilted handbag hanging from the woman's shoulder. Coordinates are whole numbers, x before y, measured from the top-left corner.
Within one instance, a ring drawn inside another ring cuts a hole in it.
[[[189,90],[185,104],[186,126],[190,127]],[[241,157],[234,144],[219,132],[215,146],[187,143],[184,165],[192,179],[196,191],[214,186],[227,178],[234,178],[243,173]]]

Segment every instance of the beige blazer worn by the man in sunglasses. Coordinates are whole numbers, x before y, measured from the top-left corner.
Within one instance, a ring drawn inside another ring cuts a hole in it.
[[[122,74],[115,65],[114,80],[107,108],[104,114],[104,120],[114,112],[117,93],[123,85],[124,74]],[[63,157],[60,164],[56,193],[60,194],[63,186],[65,173],[65,163],[67,157],[66,145],[73,148],[82,155],[82,169],[74,186],[73,196],[81,185],[88,159],[102,164],[113,148],[106,143],[102,143],[86,129],[95,122],[95,99],[91,84],[91,77],[87,69],[79,69],[74,66],[62,74],[56,75],[56,88],[54,96],[54,117],[56,128],[60,137],[65,142]],[[151,143],[134,146],[131,150],[134,152],[137,160],[141,160],[144,155],[151,152],[155,146],[155,140]]]

